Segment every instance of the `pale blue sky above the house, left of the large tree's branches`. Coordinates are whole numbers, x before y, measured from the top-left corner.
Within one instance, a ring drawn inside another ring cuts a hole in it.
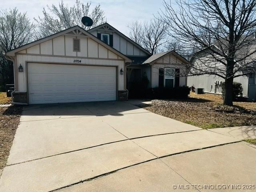
[[[46,5],[58,5],[61,0],[3,0],[1,9],[17,7],[20,12],[27,12],[29,18],[42,16],[42,10]],[[63,0],[65,5],[73,6],[75,0]],[[87,0],[81,0],[87,3]],[[158,14],[163,8],[162,0],[94,0],[91,8],[101,5],[105,12],[107,22],[120,32],[128,35],[128,24],[132,20],[141,22],[149,21],[153,14]]]

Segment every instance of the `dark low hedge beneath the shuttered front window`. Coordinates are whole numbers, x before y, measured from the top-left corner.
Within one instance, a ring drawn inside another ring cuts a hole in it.
[[[171,99],[187,98],[190,93],[188,86],[176,87],[176,88],[150,88],[146,92],[146,98],[149,99]]]

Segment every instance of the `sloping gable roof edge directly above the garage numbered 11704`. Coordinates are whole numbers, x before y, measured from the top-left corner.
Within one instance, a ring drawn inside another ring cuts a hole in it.
[[[89,38],[91,38],[92,40],[96,41],[97,43],[99,43],[100,45],[104,46],[106,49],[112,51],[113,53],[117,54],[118,56],[120,56],[121,58],[123,58],[126,62],[132,62],[132,60],[130,60],[130,58],[128,58],[127,56],[125,56],[124,54],[122,54],[121,52],[119,52],[118,50],[112,48],[111,46],[109,46],[108,44],[104,43],[102,40],[96,38],[93,34],[91,34],[90,32],[87,32],[86,30],[84,30],[83,28],[81,28],[80,26],[76,25],[74,27],[65,29],[63,31],[60,31],[58,33],[52,34],[50,36],[44,37],[42,39],[30,42],[28,44],[22,45],[18,48],[12,49],[8,52],[6,52],[6,56],[15,56],[16,52],[22,51],[26,48],[30,48],[32,46],[35,46],[37,44],[40,44],[42,42],[46,42],[50,39],[56,38],[58,36],[67,34],[69,32],[72,32],[73,30],[80,30],[80,32],[82,32],[84,35],[88,36]]]

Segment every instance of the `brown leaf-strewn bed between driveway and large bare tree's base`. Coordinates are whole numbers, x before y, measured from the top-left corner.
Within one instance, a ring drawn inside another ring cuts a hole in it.
[[[152,100],[146,110],[192,124],[200,128],[218,128],[256,125],[256,113],[248,110],[245,113],[226,113],[214,110],[216,102],[188,98],[186,100]]]

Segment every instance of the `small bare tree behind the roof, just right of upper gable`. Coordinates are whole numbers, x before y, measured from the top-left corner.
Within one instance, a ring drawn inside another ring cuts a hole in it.
[[[129,37],[137,44],[142,43],[142,24],[138,20],[132,21],[128,28],[130,30]]]

